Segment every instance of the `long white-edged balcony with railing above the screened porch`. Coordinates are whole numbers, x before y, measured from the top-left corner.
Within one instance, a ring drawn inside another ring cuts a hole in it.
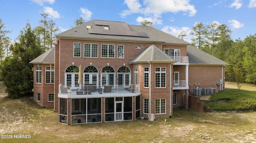
[[[94,85],[66,86],[59,85],[59,97],[102,97],[102,96],[128,96],[131,94],[140,95],[140,84],[134,85]]]

